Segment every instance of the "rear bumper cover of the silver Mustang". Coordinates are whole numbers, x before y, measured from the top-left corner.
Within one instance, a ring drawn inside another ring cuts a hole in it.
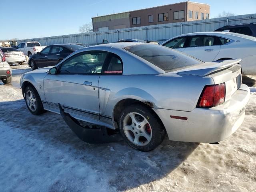
[[[250,90],[242,84],[228,102],[210,109],[195,108],[190,112],[153,110],[162,120],[170,140],[212,143],[228,138],[239,128],[249,98]],[[174,119],[170,118],[171,115],[188,119]]]

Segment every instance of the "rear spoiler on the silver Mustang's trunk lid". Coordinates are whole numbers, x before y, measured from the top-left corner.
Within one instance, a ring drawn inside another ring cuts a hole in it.
[[[204,62],[199,65],[191,66],[183,70],[176,71],[177,74],[189,74],[207,76],[220,70],[225,70],[233,65],[239,64],[242,59],[223,60],[217,62]]]

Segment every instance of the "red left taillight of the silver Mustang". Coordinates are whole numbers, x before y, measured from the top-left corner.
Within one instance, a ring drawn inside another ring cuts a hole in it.
[[[225,83],[206,85],[196,107],[210,108],[224,103],[226,96]]]

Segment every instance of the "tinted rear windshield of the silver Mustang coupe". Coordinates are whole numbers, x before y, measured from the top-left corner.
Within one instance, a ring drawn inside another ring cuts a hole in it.
[[[202,63],[200,60],[161,45],[139,44],[124,49],[166,72]]]

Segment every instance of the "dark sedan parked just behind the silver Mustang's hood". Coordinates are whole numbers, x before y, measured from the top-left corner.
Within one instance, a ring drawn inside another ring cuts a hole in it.
[[[66,56],[82,48],[84,47],[76,44],[49,45],[41,52],[37,52],[35,55],[32,55],[28,60],[28,65],[33,70],[38,67],[54,66]]]

